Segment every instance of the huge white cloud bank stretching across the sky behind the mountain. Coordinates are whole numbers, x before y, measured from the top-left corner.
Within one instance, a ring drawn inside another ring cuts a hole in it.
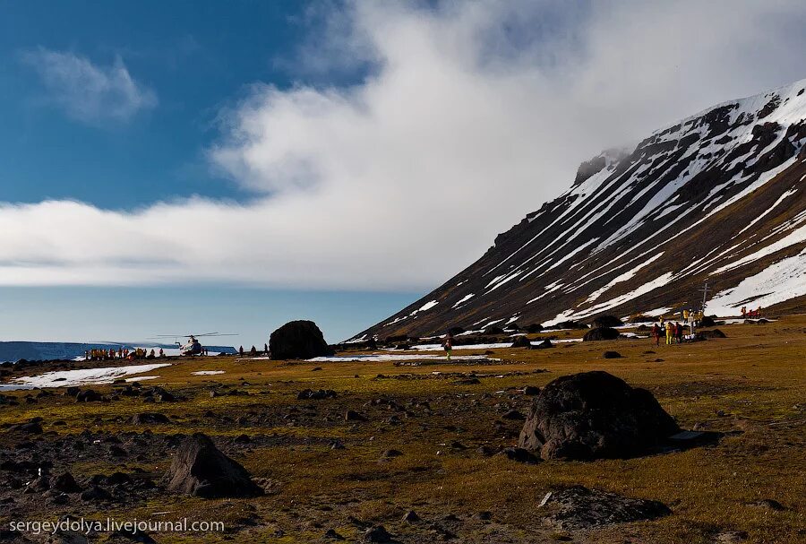
[[[252,203],[7,204],[0,284],[426,288],[581,160],[806,75],[802,2],[592,4],[355,4],[336,50],[363,82],[256,84],[223,114],[210,160]]]

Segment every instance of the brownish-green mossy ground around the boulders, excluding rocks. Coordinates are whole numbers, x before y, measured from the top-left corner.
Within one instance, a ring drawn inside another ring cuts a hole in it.
[[[454,541],[463,542],[569,537],[577,542],[697,543],[713,542],[718,532],[731,530],[746,532],[750,542],[804,541],[806,315],[720,329],[728,338],[674,346],[656,347],[644,339],[557,344],[550,350],[494,350],[491,357],[502,361],[478,366],[172,359],[173,366],[150,373],[159,374],[159,379],[143,385],[163,386],[184,396],[183,402],[144,404],[139,397],[124,397],[78,404],[57,394],[37,403],[0,408],[0,424],[42,417],[43,439],[48,440],[85,429],[142,432],[143,427],[130,423],[131,416],[159,411],[175,422],[150,426],[154,434],[204,432],[223,443],[222,449],[255,478],[270,481],[270,493],[257,499],[201,500],[160,493],[148,501],[116,504],[103,511],[98,505],[80,503],[36,513],[41,519],[65,512],[119,519],[187,516],[223,521],[230,530],[152,534],[159,542],[310,542],[321,539],[328,529],[355,540],[361,522],[381,523],[403,542],[445,538],[444,531],[429,529],[427,522],[425,528],[401,522],[409,509],[426,521],[455,514],[463,521],[452,531],[458,537]],[[624,357],[605,360],[604,350],[617,350]],[[456,350],[455,356],[474,353],[483,351]],[[322,369],[314,371],[315,367]],[[547,372],[535,372],[541,369]],[[647,388],[682,427],[696,425],[725,432],[725,437],[716,445],[684,452],[597,462],[524,465],[476,452],[480,445],[514,444],[521,423],[501,416],[510,409],[526,412],[529,398],[518,389],[593,369]],[[191,376],[197,370],[226,374]],[[456,378],[448,376],[470,372],[476,372],[481,384],[456,384]],[[211,398],[209,389],[217,384],[250,394]],[[332,389],[339,397],[297,401],[296,394],[304,388]],[[108,393],[111,387],[95,389]],[[10,394],[22,398],[28,392]],[[409,407],[409,416],[366,405],[381,397]],[[431,408],[416,402],[429,402]],[[208,410],[215,417],[205,416]],[[369,420],[345,421],[346,410],[360,411]],[[64,425],[54,425],[57,420]],[[253,443],[228,447],[227,440],[242,434],[252,436]],[[8,436],[0,432],[0,440],[0,447],[8,447]],[[345,449],[330,448],[337,440]],[[454,442],[466,449],[452,446]],[[382,452],[389,449],[403,454],[382,459]],[[63,461],[76,479],[135,467],[159,478],[170,459]],[[547,491],[573,484],[656,499],[673,514],[595,531],[558,532],[545,527],[537,504]],[[775,499],[786,509],[753,505],[762,498]],[[492,521],[471,520],[479,511],[490,511]],[[0,506],[0,522],[8,521]]]

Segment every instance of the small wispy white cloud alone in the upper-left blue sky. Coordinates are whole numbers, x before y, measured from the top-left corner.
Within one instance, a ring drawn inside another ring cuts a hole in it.
[[[120,56],[100,66],[84,56],[40,47],[22,60],[39,74],[48,100],[83,123],[128,121],[157,105],[156,93],[133,79]]]

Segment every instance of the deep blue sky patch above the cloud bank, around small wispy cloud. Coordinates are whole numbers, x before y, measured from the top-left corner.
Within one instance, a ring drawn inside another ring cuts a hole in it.
[[[187,194],[247,194],[204,164],[219,109],[244,84],[291,84],[278,58],[307,31],[298,2],[25,2],[0,18],[3,199],[73,198],[129,208]],[[70,52],[102,67],[123,59],[159,103],[130,122],[76,122],[47,105],[23,59]]]

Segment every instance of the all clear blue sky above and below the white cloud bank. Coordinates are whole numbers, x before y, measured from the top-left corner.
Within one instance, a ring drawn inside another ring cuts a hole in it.
[[[203,152],[217,135],[220,109],[245,85],[285,88],[298,79],[283,59],[296,56],[316,24],[310,8],[296,1],[3,4],[0,200],[74,199],[111,209],[191,194],[248,200],[253,192],[209,168]],[[100,67],[121,58],[158,104],[125,122],[77,120],[50,101],[25,60],[43,49]],[[354,74],[333,76],[347,81]],[[136,341],[210,330],[261,345],[280,324],[304,317],[316,320],[329,341],[340,341],[419,294],[228,285],[0,288],[0,340]]]

